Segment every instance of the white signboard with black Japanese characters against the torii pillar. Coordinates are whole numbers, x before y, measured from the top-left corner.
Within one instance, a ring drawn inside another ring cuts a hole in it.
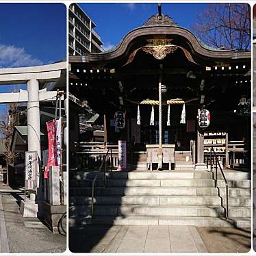
[[[37,152],[25,152],[25,180],[27,181],[27,190],[34,190],[34,182],[36,181],[37,168]]]

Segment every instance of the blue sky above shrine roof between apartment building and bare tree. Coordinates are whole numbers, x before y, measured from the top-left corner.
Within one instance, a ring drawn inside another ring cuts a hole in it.
[[[96,31],[103,40],[104,49],[110,49],[131,29],[139,27],[157,13],[157,3],[79,3],[97,24]],[[162,3],[162,12],[181,27],[191,28],[196,15],[205,3]]]

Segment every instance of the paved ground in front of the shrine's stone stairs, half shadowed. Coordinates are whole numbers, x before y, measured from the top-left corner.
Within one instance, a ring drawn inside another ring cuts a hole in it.
[[[250,248],[250,229],[88,225],[69,231],[74,253],[242,253]]]

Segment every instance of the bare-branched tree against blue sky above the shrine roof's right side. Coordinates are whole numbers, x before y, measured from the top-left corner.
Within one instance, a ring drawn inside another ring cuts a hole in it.
[[[205,44],[222,49],[251,48],[251,7],[247,3],[209,3],[192,25]]]

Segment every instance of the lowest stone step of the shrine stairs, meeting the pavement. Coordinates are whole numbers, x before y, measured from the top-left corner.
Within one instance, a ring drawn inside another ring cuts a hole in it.
[[[185,225],[195,227],[251,227],[251,218],[225,218],[214,217],[185,217],[185,216],[96,216],[86,218],[84,216],[70,217],[69,227],[90,224],[97,225]]]

